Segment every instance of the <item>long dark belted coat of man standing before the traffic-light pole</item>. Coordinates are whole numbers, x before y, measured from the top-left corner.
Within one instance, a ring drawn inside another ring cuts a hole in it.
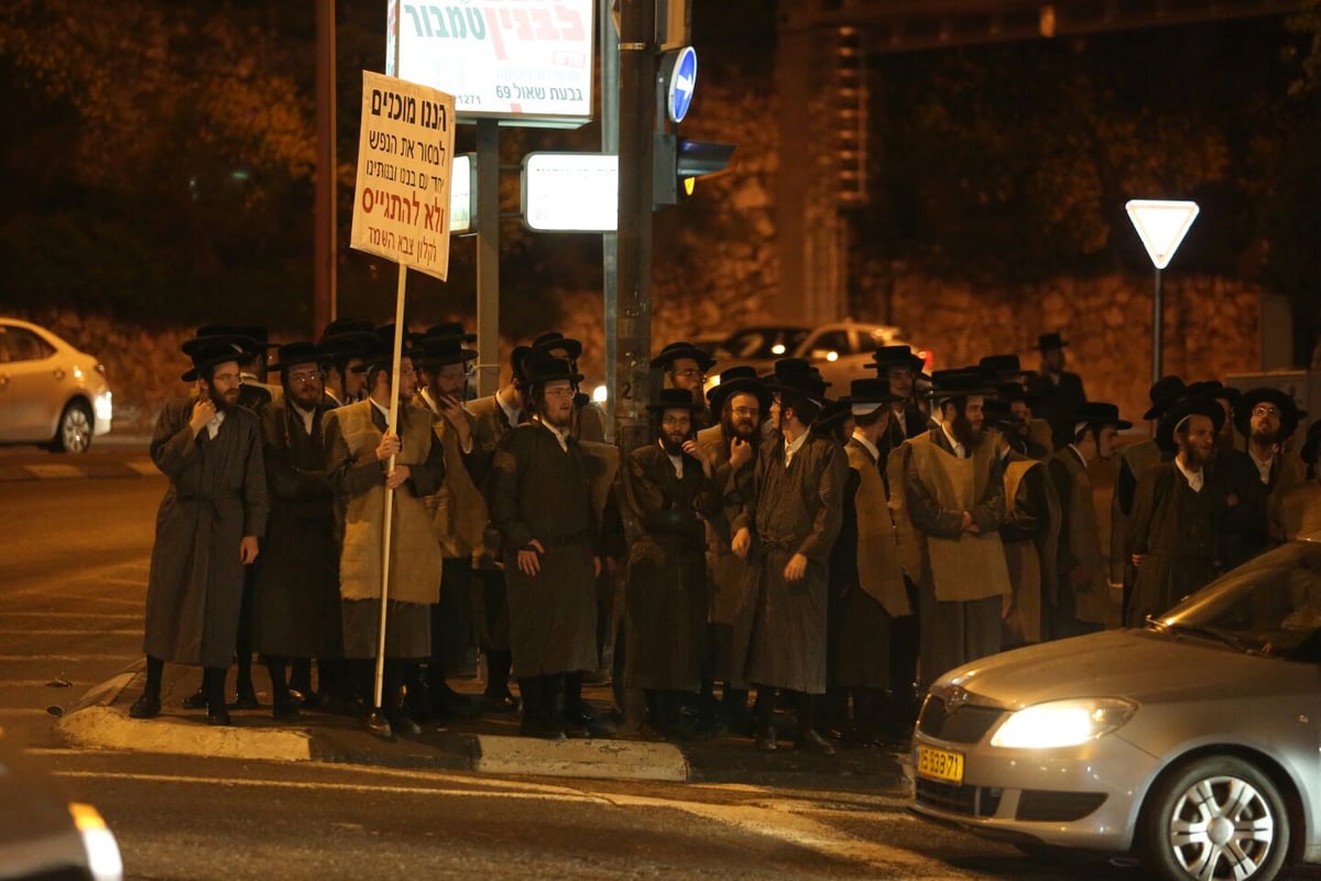
[[[720,497],[701,464],[684,454],[683,477],[658,445],[629,457],[625,493],[642,534],[629,552],[625,684],[696,691],[707,633],[704,518]]]

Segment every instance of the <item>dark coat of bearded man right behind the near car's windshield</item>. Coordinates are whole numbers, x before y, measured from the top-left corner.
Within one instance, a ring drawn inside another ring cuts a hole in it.
[[[1218,571],[1215,524],[1225,494],[1213,474],[1193,491],[1174,462],[1161,462],[1137,481],[1128,547],[1143,555],[1124,623],[1140,627],[1147,616],[1168,612],[1205,586]]]

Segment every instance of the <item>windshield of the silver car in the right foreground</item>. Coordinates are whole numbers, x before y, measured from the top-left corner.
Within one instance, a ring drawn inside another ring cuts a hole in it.
[[[1242,651],[1321,662],[1321,543],[1291,542],[1159,616],[1155,626]]]

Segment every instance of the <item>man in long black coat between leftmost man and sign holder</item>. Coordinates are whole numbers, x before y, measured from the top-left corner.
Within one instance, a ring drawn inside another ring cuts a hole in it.
[[[317,659],[321,696],[346,696],[334,547],[334,499],[325,473],[322,423],[330,404],[322,386],[326,353],[312,342],[280,346],[284,390],[262,411],[262,446],[271,494],[266,553],[256,575],[252,649],[271,674],[271,715],[295,720],[303,701],[289,689],[288,664]],[[338,662],[338,663],[337,663]],[[312,701],[310,672],[299,683]]]

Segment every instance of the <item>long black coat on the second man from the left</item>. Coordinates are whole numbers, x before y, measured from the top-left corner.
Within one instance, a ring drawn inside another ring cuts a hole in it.
[[[310,435],[287,398],[262,412],[271,519],[256,575],[252,647],[266,655],[343,654],[334,494],[321,432],[326,409],[320,403],[313,411]]]

